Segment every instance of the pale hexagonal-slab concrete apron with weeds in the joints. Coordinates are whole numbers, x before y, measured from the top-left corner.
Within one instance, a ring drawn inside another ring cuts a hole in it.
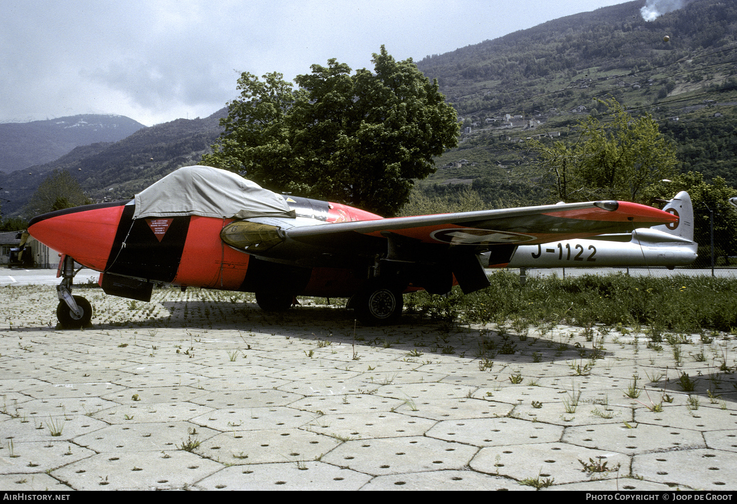
[[[604,328],[92,288],[92,327],[63,331],[53,288],[1,291],[4,490],[737,489],[732,336],[677,361]]]

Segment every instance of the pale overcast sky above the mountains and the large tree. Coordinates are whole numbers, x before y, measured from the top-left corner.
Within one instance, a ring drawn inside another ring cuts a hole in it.
[[[652,0],[651,0],[652,1]],[[422,60],[622,0],[0,0],[0,122],[206,117],[242,71]],[[644,4],[643,0],[643,4]]]

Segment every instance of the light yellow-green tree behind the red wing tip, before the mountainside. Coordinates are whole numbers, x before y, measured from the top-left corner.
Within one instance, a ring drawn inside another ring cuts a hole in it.
[[[615,99],[602,123],[588,116],[579,121],[573,142],[533,141],[540,165],[564,202],[619,199],[646,202],[645,189],[671,177],[677,166],[674,147],[649,115],[632,118]]]

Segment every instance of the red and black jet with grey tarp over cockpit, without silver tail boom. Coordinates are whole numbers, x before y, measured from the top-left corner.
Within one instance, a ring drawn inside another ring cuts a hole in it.
[[[59,251],[57,317],[83,327],[74,261],[116,296],[149,301],[153,283],[255,292],[266,310],[296,295],[350,297],[357,319],[393,322],[402,292],[465,294],[489,285],[479,254],[508,263],[517,244],[626,233],[677,223],[671,213],[599,201],[383,219],[339,203],[281,196],[229,171],[179,168],[128,202],[37,216],[28,233]]]

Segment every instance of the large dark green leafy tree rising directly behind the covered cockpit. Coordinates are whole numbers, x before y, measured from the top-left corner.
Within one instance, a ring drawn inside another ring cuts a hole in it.
[[[411,59],[374,54],[374,71],[312,65],[292,90],[282,74],[244,73],[240,99],[202,163],[244,174],[272,191],[394,215],[433,157],[458,143],[455,110]]]

